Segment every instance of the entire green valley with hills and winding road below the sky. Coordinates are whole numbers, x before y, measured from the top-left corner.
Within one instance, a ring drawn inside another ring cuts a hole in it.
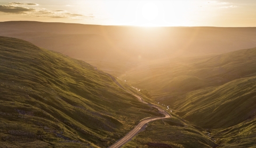
[[[0,145],[255,147],[254,32],[0,22]]]

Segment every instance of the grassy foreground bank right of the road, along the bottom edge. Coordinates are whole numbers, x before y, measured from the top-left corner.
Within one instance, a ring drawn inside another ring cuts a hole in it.
[[[149,123],[123,147],[255,147],[255,117],[228,128],[202,129],[173,117]],[[199,130],[198,130],[199,129]]]

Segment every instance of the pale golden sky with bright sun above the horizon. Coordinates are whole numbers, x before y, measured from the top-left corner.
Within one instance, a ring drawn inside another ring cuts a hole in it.
[[[0,21],[256,27],[255,0],[1,0]]]

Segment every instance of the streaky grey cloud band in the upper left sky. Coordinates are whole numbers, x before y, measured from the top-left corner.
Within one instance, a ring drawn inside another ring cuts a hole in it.
[[[27,5],[27,7],[23,5]],[[49,18],[69,18],[69,19],[94,18],[93,14],[82,15],[82,14],[69,13],[65,10],[53,11],[53,10],[48,10],[46,8],[40,8],[40,7],[29,8],[29,6],[38,6],[38,4],[11,2],[8,5],[0,5],[0,12],[4,12],[6,14],[20,14],[20,15],[49,17]]]

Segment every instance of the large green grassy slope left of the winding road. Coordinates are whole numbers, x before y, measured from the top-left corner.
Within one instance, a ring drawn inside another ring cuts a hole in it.
[[[0,37],[0,145],[107,147],[157,115],[95,67]]]

